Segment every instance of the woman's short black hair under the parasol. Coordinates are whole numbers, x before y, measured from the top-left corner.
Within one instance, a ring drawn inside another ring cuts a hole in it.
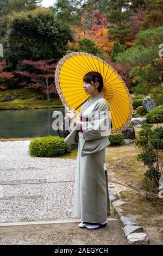
[[[103,86],[104,86],[104,83],[103,83],[103,77],[102,75],[99,73],[99,72],[95,72],[95,71],[91,71],[91,72],[88,72],[84,78],[83,78],[83,81],[85,83],[90,83],[92,84],[92,86],[94,86],[94,83],[99,83],[99,86],[97,87],[97,90],[99,93],[102,92],[102,89],[103,89]]]

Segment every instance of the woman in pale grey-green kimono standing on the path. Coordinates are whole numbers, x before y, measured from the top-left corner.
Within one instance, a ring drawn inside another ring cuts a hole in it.
[[[80,119],[72,109],[70,135],[65,142],[78,143],[74,189],[74,215],[82,219],[80,228],[97,229],[107,225],[107,194],[104,173],[105,147],[110,145],[109,105],[101,93],[103,78],[89,72],[83,78],[89,99],[83,104]]]

